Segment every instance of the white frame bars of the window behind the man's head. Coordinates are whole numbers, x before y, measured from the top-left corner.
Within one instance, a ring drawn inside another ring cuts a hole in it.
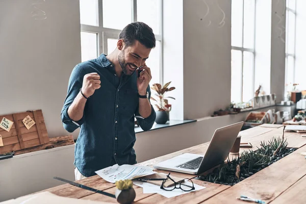
[[[81,32],[88,32],[88,33],[96,33],[97,34],[97,54],[98,56],[102,53],[107,54],[107,39],[114,38],[117,39],[121,30],[117,29],[110,29],[103,27],[103,0],[97,0],[98,7],[97,7],[97,20],[98,25],[87,25],[81,24]],[[127,0],[126,0],[127,1]],[[132,22],[137,21],[137,0],[130,0],[132,1]],[[159,18],[160,18],[160,32],[159,34],[154,34],[157,41],[161,42],[160,46],[160,83],[163,84],[163,0],[159,0]]]

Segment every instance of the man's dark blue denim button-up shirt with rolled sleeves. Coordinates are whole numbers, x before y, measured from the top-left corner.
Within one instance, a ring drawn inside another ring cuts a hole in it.
[[[79,94],[84,75],[92,72],[100,75],[101,87],[87,99],[83,117],[72,121],[68,107]],[[104,54],[73,68],[61,118],[68,132],[81,128],[74,149],[74,165],[86,177],[113,165],[114,160],[119,165],[136,163],[134,115],[140,116],[136,80],[136,72],[130,76],[122,73],[119,79],[114,65]],[[147,92],[150,98],[149,86]],[[151,129],[155,122],[152,105],[151,109],[149,117],[136,117],[144,131]]]

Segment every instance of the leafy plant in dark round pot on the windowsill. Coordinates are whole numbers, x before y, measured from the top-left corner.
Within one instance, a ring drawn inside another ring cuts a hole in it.
[[[152,90],[156,91],[155,95],[158,97],[155,99],[151,96],[151,99],[156,101],[157,104],[155,106],[158,108],[158,111],[156,112],[156,120],[155,122],[158,124],[165,124],[169,120],[169,112],[171,111],[171,104],[168,104],[168,99],[166,98],[172,98],[171,96],[165,97],[165,94],[169,91],[172,91],[175,89],[175,87],[170,87],[171,82],[166,83],[163,87],[161,84],[153,84],[151,87]]]

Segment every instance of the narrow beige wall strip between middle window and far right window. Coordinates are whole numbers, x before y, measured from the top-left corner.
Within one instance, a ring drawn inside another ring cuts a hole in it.
[[[272,1],[271,18],[271,93],[276,94],[277,102],[284,99],[285,93],[285,39],[286,2]],[[283,32],[281,32],[281,30]]]

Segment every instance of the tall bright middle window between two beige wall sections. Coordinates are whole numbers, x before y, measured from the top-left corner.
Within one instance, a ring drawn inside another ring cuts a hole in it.
[[[247,102],[254,94],[255,1],[232,1],[231,101]]]

